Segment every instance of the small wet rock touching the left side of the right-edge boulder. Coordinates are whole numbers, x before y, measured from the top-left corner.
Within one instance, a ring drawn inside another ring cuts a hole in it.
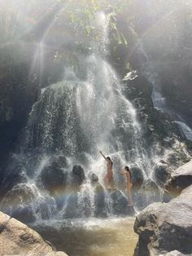
[[[154,168],[155,180],[160,187],[164,188],[165,183],[171,176],[172,168],[165,161],[159,161]]]

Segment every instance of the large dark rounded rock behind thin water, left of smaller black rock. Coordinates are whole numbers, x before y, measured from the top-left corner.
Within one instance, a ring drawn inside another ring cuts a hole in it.
[[[41,171],[41,183],[53,194],[66,185],[67,178],[68,173],[59,167],[57,161],[52,161]]]

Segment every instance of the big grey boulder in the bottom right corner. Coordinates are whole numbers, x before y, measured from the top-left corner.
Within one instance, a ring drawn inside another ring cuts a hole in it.
[[[137,215],[134,231],[135,256],[192,254],[192,185],[168,204],[149,205]]]

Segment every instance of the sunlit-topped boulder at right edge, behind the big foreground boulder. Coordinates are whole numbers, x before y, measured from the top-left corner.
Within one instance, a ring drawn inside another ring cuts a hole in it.
[[[165,186],[165,189],[172,196],[178,196],[184,188],[192,184],[192,161],[177,168],[171,174],[171,178]]]

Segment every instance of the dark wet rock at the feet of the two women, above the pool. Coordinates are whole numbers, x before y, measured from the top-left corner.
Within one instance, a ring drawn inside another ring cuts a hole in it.
[[[129,206],[129,200],[124,196],[123,192],[116,190],[111,193],[112,209],[116,215],[133,215],[133,207]]]

